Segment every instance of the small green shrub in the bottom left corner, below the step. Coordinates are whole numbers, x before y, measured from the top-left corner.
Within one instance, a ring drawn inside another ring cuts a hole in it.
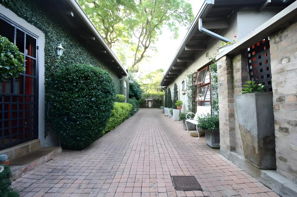
[[[1,197],[18,197],[18,193],[15,191],[12,191],[12,188],[10,187],[11,181],[10,181],[10,169],[8,166],[4,164],[0,164],[0,166],[4,166],[4,170],[0,172],[0,196]]]

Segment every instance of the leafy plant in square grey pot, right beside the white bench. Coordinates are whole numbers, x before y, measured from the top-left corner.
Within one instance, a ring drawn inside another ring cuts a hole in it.
[[[198,116],[198,127],[205,129],[206,144],[211,148],[220,147],[219,115]]]

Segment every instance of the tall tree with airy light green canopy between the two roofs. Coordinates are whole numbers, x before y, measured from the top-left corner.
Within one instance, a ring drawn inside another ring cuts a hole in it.
[[[184,0],[79,0],[110,47],[122,42],[130,45],[133,57],[130,68],[144,57],[157,41],[162,28],[167,27],[178,37],[178,26],[193,21],[192,6]]]

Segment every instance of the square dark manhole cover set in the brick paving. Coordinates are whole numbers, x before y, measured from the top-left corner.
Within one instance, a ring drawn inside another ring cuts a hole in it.
[[[176,190],[202,190],[195,176],[172,176],[172,182]]]

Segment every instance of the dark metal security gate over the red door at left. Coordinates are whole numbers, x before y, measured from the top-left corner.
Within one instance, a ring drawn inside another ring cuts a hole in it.
[[[24,56],[19,78],[0,82],[0,149],[38,138],[38,38],[0,14],[0,35]]]

